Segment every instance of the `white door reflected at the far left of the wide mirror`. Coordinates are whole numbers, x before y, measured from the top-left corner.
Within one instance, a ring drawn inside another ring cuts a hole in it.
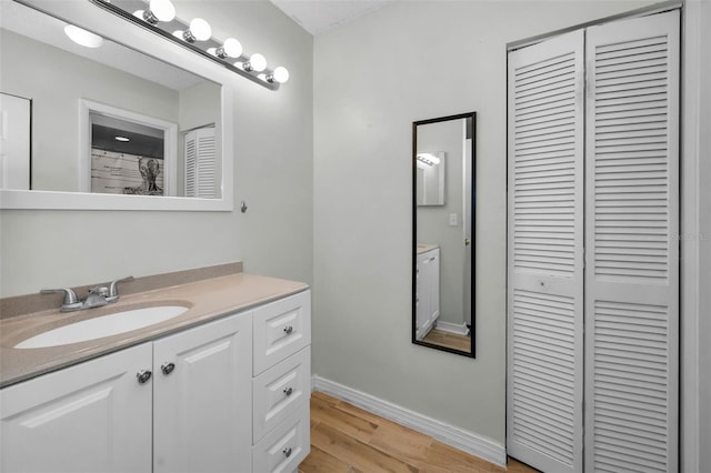
[[[0,93],[0,189],[30,189],[32,101]]]

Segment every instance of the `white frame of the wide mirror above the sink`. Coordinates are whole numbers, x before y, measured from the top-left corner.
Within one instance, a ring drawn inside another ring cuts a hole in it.
[[[158,60],[197,73],[221,87],[220,135],[222,182],[219,199],[150,197],[0,189],[0,209],[43,210],[157,210],[157,211],[232,211],[234,209],[233,92],[237,76],[219,64],[191,54],[180,46],[139,28],[96,4],[56,0],[11,0],[62,21],[96,32],[111,41],[141,51]],[[98,28],[101,31],[97,31]],[[198,71],[198,72],[194,72]],[[79,119],[79,118],[77,118]],[[227,131],[227,132],[226,132]],[[79,137],[77,137],[79,139]],[[79,157],[77,157],[79,159]]]

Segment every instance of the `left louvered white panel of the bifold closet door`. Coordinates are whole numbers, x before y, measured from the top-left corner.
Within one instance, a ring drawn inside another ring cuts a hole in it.
[[[583,33],[509,53],[507,450],[582,469]]]

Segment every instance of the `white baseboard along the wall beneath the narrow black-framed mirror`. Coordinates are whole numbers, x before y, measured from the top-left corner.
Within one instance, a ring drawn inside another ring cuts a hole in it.
[[[367,394],[362,391],[348,388],[343,384],[327,380],[314,374],[311,378],[311,390],[320,391],[340,400],[347,401],[365,411],[378,414],[392,422],[414,429],[418,432],[430,435],[454,449],[459,449],[471,455],[479,456],[499,466],[507,465],[505,447],[483,437],[474,432],[469,432],[454,425],[447,424],[435,419],[419,414],[409,409]]]

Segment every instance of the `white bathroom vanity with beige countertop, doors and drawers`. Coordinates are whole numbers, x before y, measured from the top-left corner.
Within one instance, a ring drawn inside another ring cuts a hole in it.
[[[77,318],[163,301],[189,309],[100,340],[13,348]],[[240,273],[114,305],[0,321],[1,471],[298,470],[310,451],[306,284]]]

